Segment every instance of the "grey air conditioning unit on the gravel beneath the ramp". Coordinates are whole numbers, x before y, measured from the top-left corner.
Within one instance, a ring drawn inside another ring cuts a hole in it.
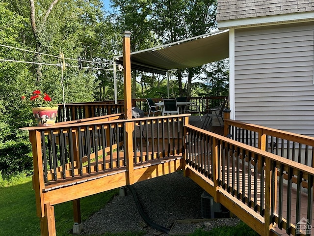
[[[227,218],[229,217],[229,210],[216,203],[214,198],[204,191],[201,195],[201,215],[204,219]]]

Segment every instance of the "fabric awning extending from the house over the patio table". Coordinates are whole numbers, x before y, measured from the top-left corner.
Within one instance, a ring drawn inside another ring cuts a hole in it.
[[[229,58],[229,29],[131,53],[131,69],[166,74]],[[123,64],[123,56],[115,57]]]

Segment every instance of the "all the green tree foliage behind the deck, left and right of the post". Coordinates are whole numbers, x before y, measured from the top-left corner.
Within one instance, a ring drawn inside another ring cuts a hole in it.
[[[134,52],[215,28],[216,0],[111,3],[112,11],[107,12],[101,0],[0,0],[0,44],[10,46],[0,46],[0,59],[35,62],[0,60],[0,171],[6,168],[9,174],[23,171],[21,165],[31,166],[28,133],[19,128],[32,126],[33,119],[30,108],[21,103],[22,95],[40,89],[55,103],[63,103],[63,93],[66,103],[113,100],[112,59],[122,54],[122,31],[132,32]],[[65,55],[64,71],[60,53]],[[220,95],[227,89],[224,62],[169,74],[170,96]],[[132,75],[133,98],[168,96],[167,76],[141,71]],[[123,88],[118,71],[119,99],[124,98]],[[12,151],[18,156],[12,157]]]

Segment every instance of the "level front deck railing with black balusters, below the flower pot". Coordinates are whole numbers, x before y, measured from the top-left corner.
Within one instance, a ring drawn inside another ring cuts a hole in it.
[[[122,115],[29,128],[32,147],[37,153],[35,163],[42,163],[34,169],[45,183],[53,182],[45,191],[59,188],[56,181],[69,177],[104,173],[114,168],[127,170],[148,161],[183,155],[183,124],[189,115],[118,119]],[[132,130],[132,147],[126,147],[128,125]],[[133,161],[127,166],[130,152]]]

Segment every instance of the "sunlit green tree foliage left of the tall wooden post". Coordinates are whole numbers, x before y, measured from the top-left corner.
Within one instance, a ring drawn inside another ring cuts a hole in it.
[[[79,70],[77,58],[88,68],[104,65],[97,62],[111,62],[118,49],[105,42],[116,37],[106,20],[100,0],[0,0],[0,44],[11,47],[0,46],[0,58],[42,63],[0,61],[2,173],[31,170],[28,132],[19,128],[32,126],[33,118],[30,107],[21,103],[22,95],[40,89],[55,103],[62,103],[62,80],[65,102],[98,99],[97,90],[106,76],[95,69]],[[110,35],[106,29],[111,30]],[[58,66],[60,52],[69,58],[65,71]]]

